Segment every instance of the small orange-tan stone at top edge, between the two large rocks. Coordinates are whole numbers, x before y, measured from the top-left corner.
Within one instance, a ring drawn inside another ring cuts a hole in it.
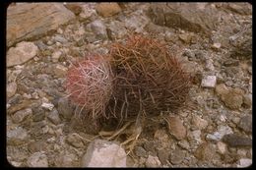
[[[110,17],[121,12],[117,3],[99,3],[96,5],[96,12],[102,17]]]

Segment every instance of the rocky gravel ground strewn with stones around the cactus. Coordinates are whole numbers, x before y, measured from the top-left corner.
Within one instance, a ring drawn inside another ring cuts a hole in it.
[[[23,21],[16,19],[30,8],[26,3],[12,4],[7,14],[6,149],[12,165],[244,167],[252,163],[250,4],[60,3],[46,4]],[[195,77],[190,98],[196,104],[145,125],[126,156],[128,150],[118,144],[120,139],[95,141],[100,137],[91,123],[73,117],[75,106],[66,97],[64,82],[72,61],[91,53],[105,54],[109,44],[123,41],[132,31],[166,42]],[[104,154],[107,157],[100,157]]]

